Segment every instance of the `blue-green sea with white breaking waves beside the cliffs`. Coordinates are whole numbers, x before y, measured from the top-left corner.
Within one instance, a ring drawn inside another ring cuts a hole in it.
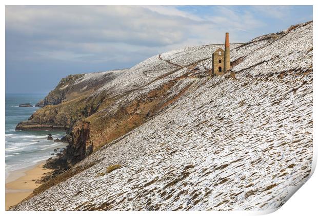
[[[61,139],[65,135],[64,131],[15,131],[17,123],[28,120],[40,109],[34,105],[45,96],[46,94],[6,94],[6,183],[9,179],[14,180],[10,177],[11,173],[52,157],[52,154],[56,154],[54,149],[62,149],[67,145],[47,140],[48,134],[52,134],[53,139]],[[19,107],[22,103],[30,103],[33,107]]]

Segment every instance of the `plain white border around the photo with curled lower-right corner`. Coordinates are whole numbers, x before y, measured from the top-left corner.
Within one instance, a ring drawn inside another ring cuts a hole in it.
[[[317,6],[315,6],[315,2],[317,1],[310,1],[310,0],[302,0],[302,1],[295,1],[295,0],[290,0],[290,1],[274,1],[274,0],[267,0],[267,1],[251,1],[251,0],[241,0],[240,2],[238,1],[207,1],[207,0],[196,0],[196,1],[190,1],[190,0],[161,0],[161,1],[145,1],[145,0],[135,0],[135,1],[125,1],[125,0],[117,0],[117,1],[101,1],[101,0],[90,0],[90,1],[83,1],[83,0],[78,0],[78,1],[62,1],[62,0],[47,0],[47,1],[39,1],[39,0],[29,0],[29,1],[22,1],[22,0],[17,0],[17,1],[2,1],[4,4],[2,5],[1,8],[1,29],[2,29],[2,34],[1,34],[1,41],[2,41],[2,52],[1,52],[1,61],[2,61],[2,71],[1,71],[1,76],[2,79],[0,80],[1,84],[1,101],[5,101],[5,5],[313,5],[313,16],[315,14],[318,14],[317,11]],[[220,4],[222,3],[222,4]],[[315,23],[313,23],[314,25]],[[313,44],[316,44],[315,40],[316,38],[316,28],[313,27]],[[270,32],[268,32],[270,33]],[[315,53],[315,51],[314,51]],[[315,55],[313,56],[313,64],[315,65],[316,58]],[[315,67],[314,67],[315,68]],[[315,79],[315,73],[313,74],[313,77]],[[315,91],[316,86],[313,85],[313,97],[315,98],[316,94]],[[314,103],[314,101],[313,101]],[[315,105],[313,105],[313,131],[316,131],[316,109]],[[1,106],[2,110],[2,115],[1,115],[1,130],[3,133],[2,136],[2,145],[3,148],[5,148],[5,106],[2,104]],[[315,145],[315,140],[316,136],[313,134],[313,142],[314,142],[314,155],[313,155],[313,169],[311,174],[313,173],[315,166],[316,166],[316,159],[317,159],[317,151],[316,151],[316,145]],[[3,149],[3,161],[2,161],[2,167],[3,171],[5,170],[5,150]],[[34,214],[34,215],[41,215],[43,212],[35,212],[35,211],[20,211],[20,212],[13,212],[13,211],[4,211],[5,209],[5,173],[2,173],[2,199],[1,199],[1,206],[2,206],[2,213],[6,215],[25,215],[25,214]],[[318,183],[318,177],[317,174],[313,174],[311,178],[303,185],[299,191],[295,195],[293,195],[279,210],[273,212],[271,215],[313,215],[314,213],[317,213],[317,207],[316,207],[316,197],[317,197],[317,184]],[[296,188],[297,189],[297,188]],[[295,190],[295,189],[293,189]],[[291,190],[292,191],[292,190]],[[47,215],[56,215],[57,212],[45,212]],[[58,214],[67,214],[67,215],[74,215],[74,214],[87,214],[88,212],[58,212]],[[138,215],[143,215],[143,214],[153,214],[153,215],[158,215],[162,214],[163,212],[157,211],[157,212],[149,212],[149,211],[141,211],[141,212],[135,212],[135,211],[108,211],[108,212],[89,212],[89,214],[110,214],[110,215],[123,215],[123,214],[138,214]],[[207,214],[213,214],[213,215],[255,215],[255,214],[264,214],[264,213],[270,213],[269,211],[178,211],[178,212],[171,212],[171,211],[166,211],[164,212],[165,214],[195,214],[195,215],[207,215]]]

